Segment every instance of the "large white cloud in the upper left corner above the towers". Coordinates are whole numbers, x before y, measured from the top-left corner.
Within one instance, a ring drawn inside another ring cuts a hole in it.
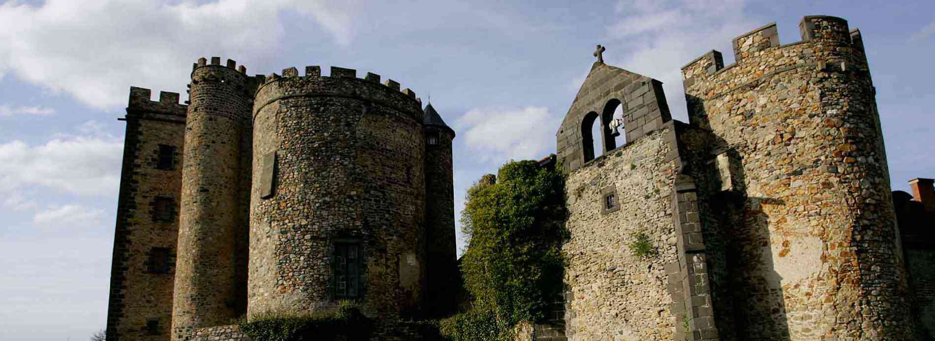
[[[280,43],[284,10],[310,15],[347,45],[347,8],[330,0],[7,1],[0,5],[0,77],[9,72],[112,109],[125,105],[130,85],[184,93],[198,57],[261,59]]]

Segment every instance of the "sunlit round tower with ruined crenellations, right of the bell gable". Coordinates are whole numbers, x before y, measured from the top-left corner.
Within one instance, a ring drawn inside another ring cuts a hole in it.
[[[752,339],[909,340],[906,282],[883,137],[859,32],[805,17],[683,67],[689,118],[732,152],[741,202],[726,234],[738,334]]]

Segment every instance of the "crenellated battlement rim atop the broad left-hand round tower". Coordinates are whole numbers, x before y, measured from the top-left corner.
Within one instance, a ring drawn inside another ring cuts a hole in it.
[[[349,80],[355,83],[353,87],[348,87],[342,84],[342,82]],[[403,105],[403,107],[407,107],[405,111],[410,111],[412,108],[418,108],[420,113],[422,111],[422,101],[417,98],[416,93],[409,88],[400,90],[401,86],[396,80],[386,79],[381,83],[381,76],[372,72],[367,72],[363,78],[358,78],[356,69],[338,66],[331,66],[330,76],[322,75],[322,68],[319,65],[306,66],[305,76],[300,76],[298,68],[296,67],[287,67],[282,69],[281,75],[276,73],[270,74],[264,78],[262,85],[260,85],[259,89],[257,90],[257,101],[264,102],[269,100],[266,98],[261,100],[261,97],[264,97],[264,92],[269,92],[267,88],[270,87],[279,89],[275,92],[281,92],[285,88],[290,88],[289,92],[292,92],[292,89],[295,88],[295,86],[282,86],[281,82],[284,81],[314,82],[318,84],[318,86],[298,86],[298,88],[305,89],[306,92],[297,95],[366,97],[370,100],[383,103],[400,101],[409,102]],[[387,97],[387,95],[390,95],[393,98]],[[405,99],[403,100],[402,98]]]

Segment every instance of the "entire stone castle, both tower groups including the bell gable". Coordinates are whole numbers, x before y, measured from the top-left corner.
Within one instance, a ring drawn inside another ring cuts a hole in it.
[[[775,23],[738,36],[735,64],[712,50],[684,65],[687,123],[598,46],[543,161],[567,174],[567,291],[527,336],[931,336],[935,306],[914,291],[935,289],[935,248],[900,239],[897,208],[916,206],[890,194],[860,32],[828,16],[799,29],[785,45]],[[194,64],[188,106],[131,88],[108,340],[243,339],[237,316],[344,298],[384,318],[450,313],[454,132],[434,108],[350,69],[235,66]],[[654,252],[632,252],[638,238]]]

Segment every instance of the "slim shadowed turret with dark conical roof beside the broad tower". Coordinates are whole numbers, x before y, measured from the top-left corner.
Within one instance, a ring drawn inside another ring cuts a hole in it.
[[[429,103],[424,109],[425,132],[425,226],[428,233],[428,294],[432,316],[453,312],[454,296],[459,290],[457,246],[454,241],[454,184],[452,141],[454,130],[441,120]]]

